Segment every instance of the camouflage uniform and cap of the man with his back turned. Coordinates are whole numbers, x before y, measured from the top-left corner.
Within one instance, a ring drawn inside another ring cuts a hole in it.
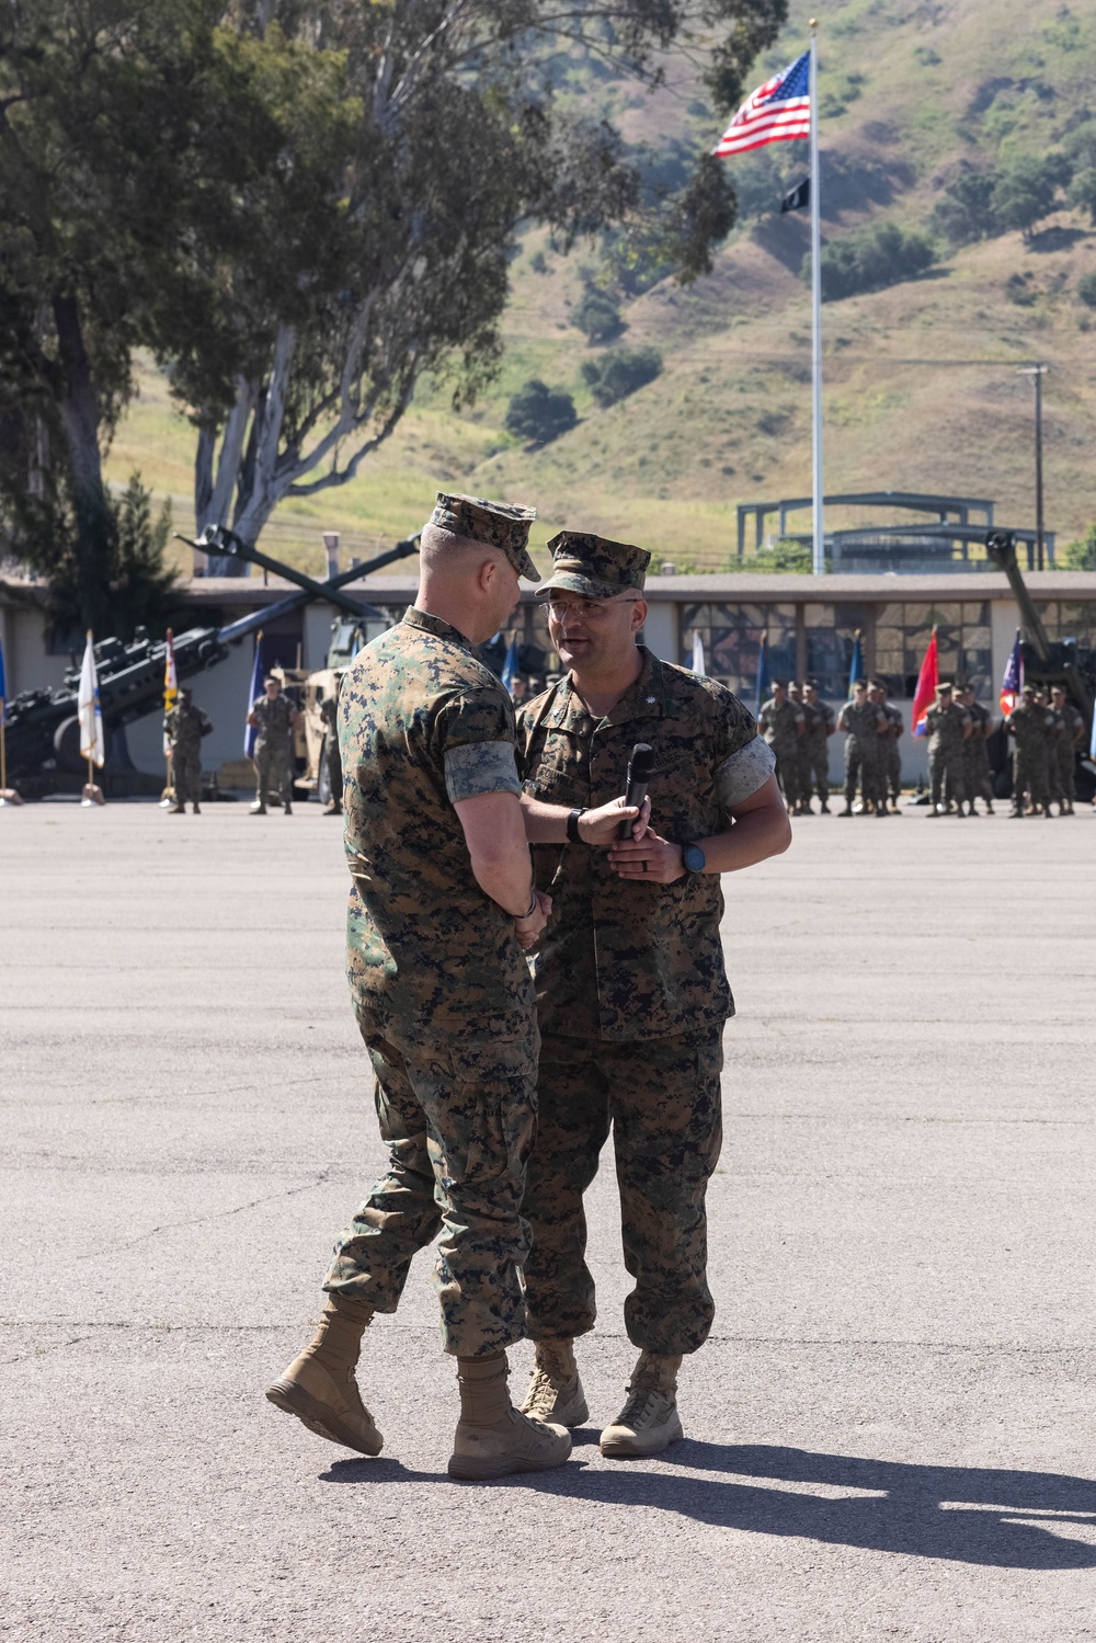
[[[457,503],[504,506],[439,498],[432,522]],[[532,518],[506,509],[500,545],[518,539],[511,560],[536,577],[524,552]],[[537,1027],[514,920],[477,884],[454,805],[521,790],[514,710],[455,628],[411,608],[352,662],[338,741],[348,979],[389,1167],[335,1245],[324,1288],[394,1313],[411,1259],[440,1231],[445,1351],[485,1357],[524,1334]]]

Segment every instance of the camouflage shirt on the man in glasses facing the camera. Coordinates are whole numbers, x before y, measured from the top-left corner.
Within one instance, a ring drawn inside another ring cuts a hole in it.
[[[654,748],[651,825],[688,845],[728,828],[728,810],[774,769],[753,715],[715,679],[642,651],[642,670],[605,718],[570,679],[518,720],[526,792],[554,805],[603,805],[624,790],[638,741]],[[552,918],[532,960],[541,1030],[580,1038],[707,1033],[735,1012],[720,945],[715,872],[674,884],[619,879],[605,849],[536,845]]]

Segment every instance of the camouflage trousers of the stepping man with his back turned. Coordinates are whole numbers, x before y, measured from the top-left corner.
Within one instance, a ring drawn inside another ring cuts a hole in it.
[[[526,1332],[536,1027],[521,1042],[432,1048],[363,1037],[389,1163],[335,1244],[324,1288],[394,1313],[412,1257],[440,1231],[442,1346],[455,1357],[498,1352]]]

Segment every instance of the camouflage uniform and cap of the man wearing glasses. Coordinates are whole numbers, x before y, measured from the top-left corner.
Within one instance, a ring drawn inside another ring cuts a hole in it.
[[[631,585],[642,587],[642,567]],[[646,741],[652,826],[679,843],[725,831],[728,808],[771,775],[772,754],[730,690],[641,654],[639,679],[605,718],[587,711],[569,677],[521,710],[526,790],[569,808],[606,803]],[[628,1336],[656,1354],[695,1352],[713,1316],[705,1190],[720,1153],[721,1037],[733,1014],[720,877],[626,881],[587,845],[536,845],[534,864],[552,918],[532,960],[542,1047],[526,1188],[529,1334],[593,1328],[582,1198],[611,1125],[624,1265],[636,1280]]]

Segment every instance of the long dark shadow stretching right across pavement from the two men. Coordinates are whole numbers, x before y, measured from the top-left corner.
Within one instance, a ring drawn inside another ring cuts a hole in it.
[[[1070,1521],[1096,1528],[1096,1480],[1053,1472],[902,1466],[805,1449],[679,1443],[674,1467],[731,1474],[735,1482],[659,1474],[652,1462],[611,1470],[567,1466],[508,1479],[555,1495],[661,1507],[700,1523],[914,1558],[946,1558],[999,1569],[1091,1569],[1096,1546],[1070,1539]],[[767,1479],[795,1489],[739,1482]],[[833,1498],[810,1487],[873,1490]],[[802,1492],[800,1492],[802,1490]],[[1042,1523],[1038,1521],[1042,1518]]]

